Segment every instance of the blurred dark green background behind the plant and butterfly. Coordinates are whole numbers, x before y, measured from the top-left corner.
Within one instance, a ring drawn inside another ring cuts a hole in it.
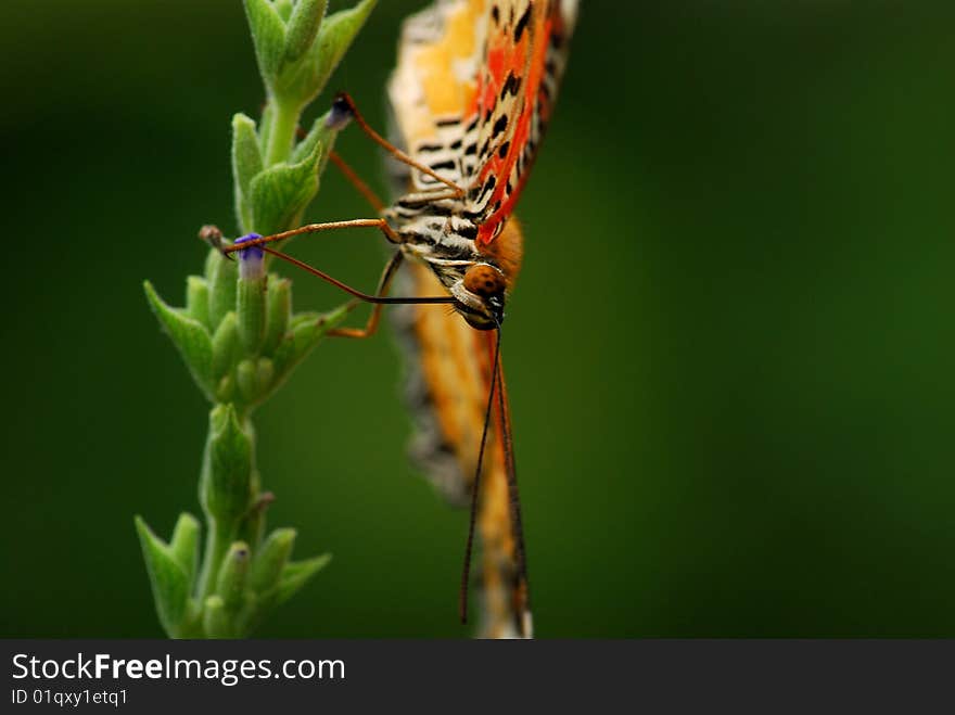
[[[382,127],[423,3],[380,4],[330,89]],[[955,636],[955,5],[580,20],[504,337],[538,635]],[[198,227],[234,227],[244,15],[3,2],[0,89],[0,636],[158,637],[132,514],[199,513],[207,408],[141,281],[181,304]],[[367,213],[330,171],[310,216]],[[371,288],[381,242],[294,251]],[[466,635],[466,518],[404,457],[399,371],[387,334],[323,343],[259,410],[270,524],[335,557],[260,636]]]

